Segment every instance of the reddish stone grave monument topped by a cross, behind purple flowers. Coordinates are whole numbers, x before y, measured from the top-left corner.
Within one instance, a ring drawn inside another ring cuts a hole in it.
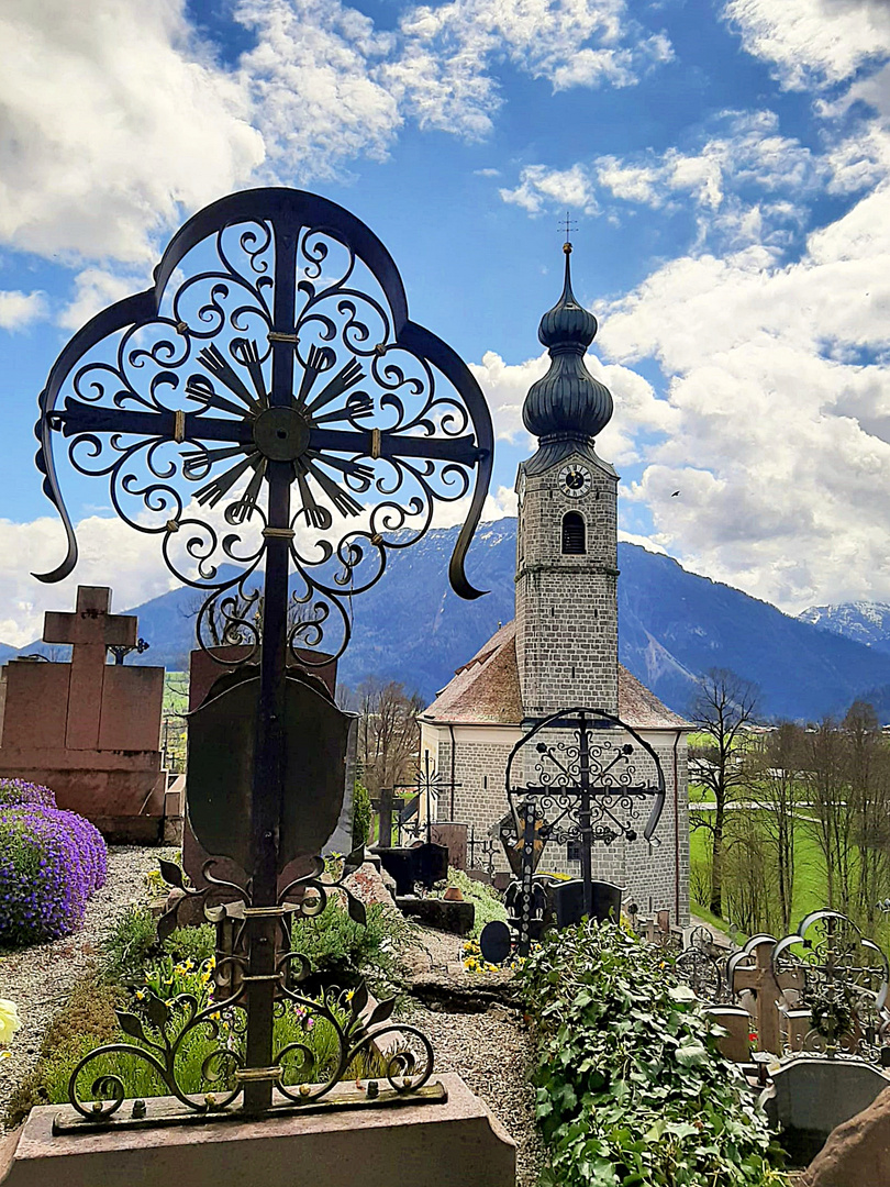
[[[44,783],[115,842],[161,839],[164,668],[108,664],[135,647],[136,618],[110,614],[112,591],[78,585],[74,614],[47,611],[43,639],[70,643],[70,664],[0,668],[0,776]]]

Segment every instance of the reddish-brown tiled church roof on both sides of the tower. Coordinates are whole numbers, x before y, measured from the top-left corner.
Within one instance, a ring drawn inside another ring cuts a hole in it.
[[[618,716],[635,729],[682,729],[688,723],[618,665]],[[508,622],[459,667],[422,717],[453,725],[519,725],[525,711],[516,667],[516,623]]]

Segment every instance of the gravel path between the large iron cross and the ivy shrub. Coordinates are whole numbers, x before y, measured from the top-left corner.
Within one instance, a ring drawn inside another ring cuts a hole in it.
[[[431,971],[459,977],[469,984],[478,973],[463,971],[463,941],[444,932],[422,928]],[[427,1035],[436,1052],[437,1072],[457,1072],[481,1097],[516,1142],[516,1185],[534,1187],[541,1170],[543,1147],[534,1121],[534,1088],[528,1083],[532,1042],[519,1010],[490,1005],[481,1014],[412,1010],[411,1021]]]

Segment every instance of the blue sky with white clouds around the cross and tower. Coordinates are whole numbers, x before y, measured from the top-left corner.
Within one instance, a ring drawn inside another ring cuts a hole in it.
[[[5,0],[0,641],[77,582],[171,588],[100,480],[68,490],[74,577],[30,576],[63,556],[36,401],[182,221],[256,185],[389,248],[489,401],[488,518],[568,211],[623,538],[792,614],[890,601],[890,0]]]

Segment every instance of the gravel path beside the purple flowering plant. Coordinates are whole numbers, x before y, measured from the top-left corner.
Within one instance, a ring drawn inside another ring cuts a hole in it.
[[[0,1117],[13,1090],[33,1068],[44,1030],[71,986],[98,952],[98,941],[134,899],[145,899],[145,875],[158,868],[159,850],[119,845],[108,850],[108,878],[87,907],[83,927],[71,935],[20,952],[0,953],[0,997],[15,1003],[21,1029],[0,1059]]]

